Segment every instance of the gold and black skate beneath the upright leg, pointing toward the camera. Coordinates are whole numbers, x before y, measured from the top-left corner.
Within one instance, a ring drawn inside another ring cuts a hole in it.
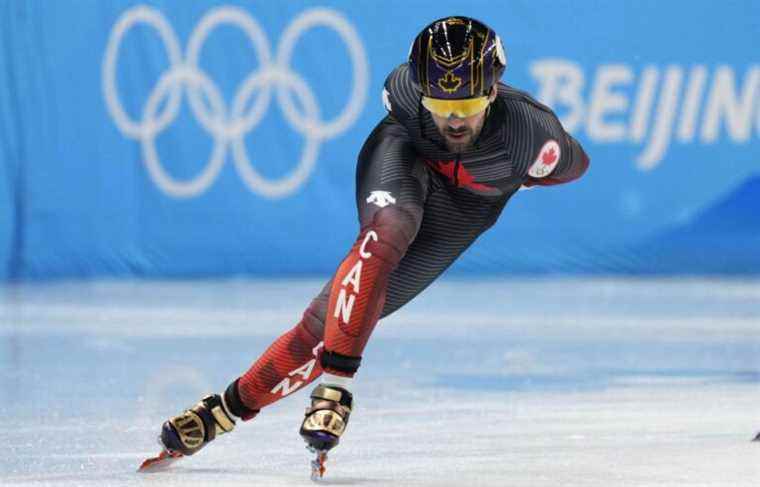
[[[311,393],[311,407],[301,424],[301,437],[307,448],[316,453],[311,462],[311,478],[318,480],[325,474],[327,452],[340,441],[346,430],[353,407],[353,396],[345,389],[325,384],[318,385]]]

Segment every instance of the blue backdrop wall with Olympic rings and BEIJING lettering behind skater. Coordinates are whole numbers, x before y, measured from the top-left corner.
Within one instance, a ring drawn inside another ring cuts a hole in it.
[[[454,272],[760,272],[760,3],[0,4],[0,277],[330,273],[386,74],[429,21],[592,159],[520,192]]]

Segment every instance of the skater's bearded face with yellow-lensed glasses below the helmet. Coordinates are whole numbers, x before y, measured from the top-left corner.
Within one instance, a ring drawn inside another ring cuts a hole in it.
[[[451,152],[463,152],[470,148],[478,138],[478,135],[480,135],[480,131],[483,129],[483,124],[486,120],[488,107],[495,98],[496,90],[494,89],[488,97],[483,97],[479,103],[477,103],[478,99],[467,100],[470,102],[469,106],[465,105],[464,109],[458,110],[457,113],[454,113],[451,107],[448,110],[441,110],[438,107],[429,106],[430,104],[426,103],[424,99],[423,105],[426,106],[433,117],[433,122],[438,128],[438,132],[441,133],[441,136],[446,141],[446,147]],[[438,113],[434,110],[438,111]],[[471,114],[470,112],[473,110],[478,111]],[[446,113],[446,111],[449,111],[449,113]]]

